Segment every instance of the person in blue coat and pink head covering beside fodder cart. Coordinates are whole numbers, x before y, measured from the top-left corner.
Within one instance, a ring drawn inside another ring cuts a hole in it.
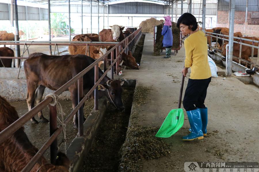
[[[162,28],[163,42],[162,45],[165,47],[165,56],[163,58],[171,57],[171,47],[173,46],[173,34],[172,34],[172,22],[171,17],[168,15],[165,18],[165,24]]]

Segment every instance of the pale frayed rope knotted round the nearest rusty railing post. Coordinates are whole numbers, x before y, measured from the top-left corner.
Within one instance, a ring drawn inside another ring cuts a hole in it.
[[[57,121],[59,122],[59,124],[62,126],[62,133],[63,133],[63,139],[61,140],[60,144],[58,145],[58,150],[59,150],[59,146],[64,143],[64,153],[66,153],[66,124],[64,124],[64,116],[65,116],[65,112],[62,109],[61,104],[58,102],[58,95],[54,94],[54,93],[50,93],[48,95],[45,96],[45,98],[47,97],[51,97],[52,98],[52,102],[49,103],[49,105],[51,106],[55,106],[57,108],[57,114],[60,114],[61,116],[61,120],[58,118],[57,115]]]

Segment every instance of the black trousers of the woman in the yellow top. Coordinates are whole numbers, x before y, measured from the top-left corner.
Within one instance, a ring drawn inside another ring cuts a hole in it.
[[[185,90],[183,106],[186,111],[197,108],[205,108],[204,101],[207,95],[207,88],[211,81],[208,79],[189,79]]]

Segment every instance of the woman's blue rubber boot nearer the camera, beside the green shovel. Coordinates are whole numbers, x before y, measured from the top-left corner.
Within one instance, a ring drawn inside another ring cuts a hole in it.
[[[182,137],[182,140],[194,140],[196,138],[203,139],[201,112],[200,109],[187,111],[188,120],[192,132],[187,136]]]

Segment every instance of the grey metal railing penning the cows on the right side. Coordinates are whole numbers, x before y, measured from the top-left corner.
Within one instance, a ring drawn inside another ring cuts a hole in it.
[[[211,36],[211,43],[212,43],[212,37],[216,38],[216,46],[217,46],[217,42],[218,42],[218,39],[221,39],[222,40],[222,46],[224,45],[224,41],[228,41],[228,39],[224,38],[224,37],[229,37],[229,35],[223,35],[223,34],[216,34],[216,33],[212,33],[212,32],[205,32],[207,36]],[[211,34],[211,35],[209,35]],[[216,35],[216,36],[214,36]],[[221,37],[220,37],[221,36]],[[239,57],[237,56],[234,56],[235,58],[237,58],[239,60],[239,64],[241,64],[241,61],[245,62],[246,64],[250,64],[251,67],[252,66],[257,66],[259,67],[259,41],[257,40],[250,40],[250,39],[245,39],[245,38],[239,38],[239,37],[233,37],[234,39],[238,39],[240,41],[233,41],[233,43],[237,43],[237,44],[240,44],[240,47],[239,47]],[[252,42],[252,45],[250,44],[245,44],[242,42],[242,40],[244,41],[249,41],[249,42]],[[254,43],[258,43],[258,46],[255,46]],[[242,52],[242,45],[243,46],[248,46],[248,47],[251,47],[252,48],[252,52],[251,52],[251,58],[254,57],[254,48],[258,49],[257,50],[257,63],[253,63],[253,62],[249,62],[247,60],[244,60],[241,58],[241,52]],[[213,47],[211,47],[213,48]]]

